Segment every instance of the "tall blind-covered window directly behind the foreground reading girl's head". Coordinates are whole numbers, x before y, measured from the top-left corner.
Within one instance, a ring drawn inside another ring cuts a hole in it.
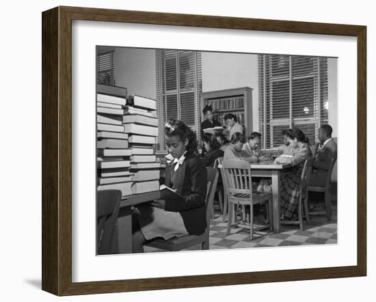
[[[165,150],[164,124],[182,120],[200,141],[200,95],[202,92],[201,53],[157,50],[157,110],[159,135],[157,150]]]

